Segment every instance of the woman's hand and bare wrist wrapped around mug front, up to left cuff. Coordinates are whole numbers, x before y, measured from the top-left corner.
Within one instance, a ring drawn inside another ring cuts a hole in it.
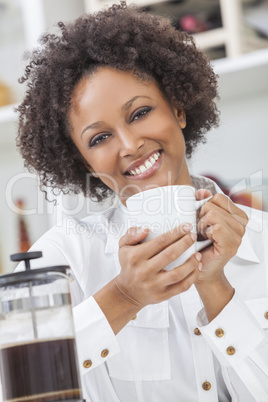
[[[121,272],[94,295],[115,334],[143,307],[184,292],[196,282],[202,267],[200,253],[178,268],[164,270],[196,240],[191,229],[180,226],[140,243],[148,229],[130,228],[120,239]]]

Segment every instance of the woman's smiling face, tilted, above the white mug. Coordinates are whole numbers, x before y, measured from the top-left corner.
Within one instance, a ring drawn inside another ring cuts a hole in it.
[[[75,87],[72,139],[90,172],[128,197],[153,187],[192,185],[185,162],[185,116],[153,81],[101,67]]]

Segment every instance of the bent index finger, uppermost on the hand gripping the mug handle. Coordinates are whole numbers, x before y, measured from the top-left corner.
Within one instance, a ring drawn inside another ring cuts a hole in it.
[[[211,205],[216,205],[222,210],[226,211],[230,216],[232,216],[241,225],[246,226],[248,223],[247,214],[238,208],[229,197],[223,194],[215,194],[208,202],[206,202],[200,210],[199,217],[201,218],[210,209]]]

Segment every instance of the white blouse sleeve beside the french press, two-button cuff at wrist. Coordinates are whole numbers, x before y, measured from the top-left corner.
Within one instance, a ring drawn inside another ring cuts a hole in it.
[[[71,282],[70,290],[79,370],[82,375],[119,352],[117,338],[105,315],[92,296],[85,297],[79,285],[83,270],[83,250],[82,237],[64,236],[57,228],[43,235],[29,250],[43,253],[42,258],[31,261],[32,268],[53,265],[71,267],[74,281]],[[23,264],[20,263],[16,270],[24,269]]]

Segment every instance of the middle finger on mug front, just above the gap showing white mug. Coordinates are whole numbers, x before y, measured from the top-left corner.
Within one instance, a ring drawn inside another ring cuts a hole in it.
[[[150,262],[153,266],[158,267],[158,270],[162,270],[168,264],[179,258],[189,247],[194,244],[196,239],[197,235],[195,233],[185,235],[175,243],[172,243],[155,254],[150,259]]]

